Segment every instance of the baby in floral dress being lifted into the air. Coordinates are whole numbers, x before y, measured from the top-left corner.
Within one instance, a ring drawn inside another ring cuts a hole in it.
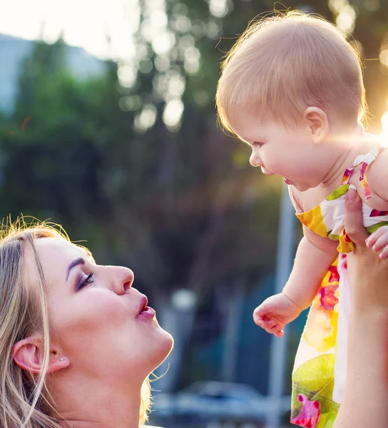
[[[289,280],[253,317],[280,337],[312,305],[292,376],[292,422],[332,427],[346,375],[349,188],[363,200],[373,233],[367,244],[388,258],[388,151],[360,123],[359,56],[323,19],[298,12],[263,19],[225,59],[216,103],[222,125],[252,148],[251,165],[284,177],[303,224]]]

